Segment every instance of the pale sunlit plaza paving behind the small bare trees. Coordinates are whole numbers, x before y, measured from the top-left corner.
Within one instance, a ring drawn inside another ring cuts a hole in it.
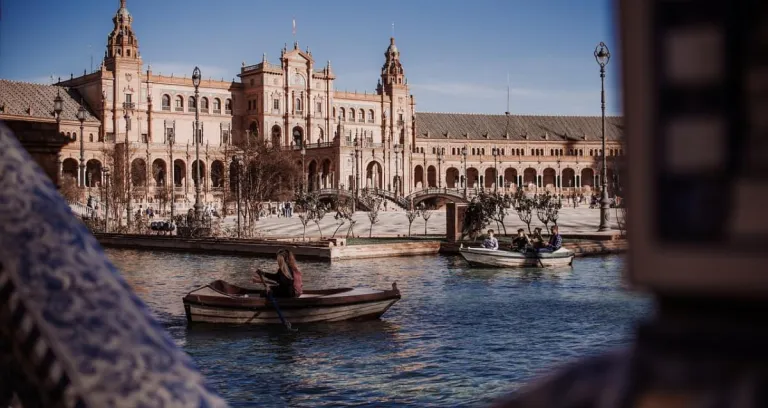
[[[370,222],[368,221],[368,213],[359,211],[355,213],[354,220],[356,221],[354,232],[356,236],[367,237]],[[330,237],[333,235],[339,223],[333,218],[334,213],[328,213],[320,222],[320,228],[323,231],[324,237]],[[562,234],[595,234],[597,226],[599,224],[600,210],[590,209],[588,207],[579,208],[563,208],[560,210],[560,219],[558,225],[560,226],[560,232]],[[227,227],[234,227],[236,224],[236,217],[229,216],[226,218],[224,225]],[[618,231],[616,224],[616,209],[610,210],[610,225],[614,230]],[[429,221],[427,222],[427,234],[429,235],[444,235],[445,234],[446,217],[445,211],[434,211]],[[510,211],[505,219],[504,223],[507,227],[507,233],[513,234],[518,228],[525,228],[525,225],[520,221],[517,213]],[[283,218],[277,216],[265,217],[257,222],[257,229],[264,237],[301,237],[304,227],[299,220],[298,214],[294,214],[291,218]],[[531,223],[531,229],[541,226],[543,224],[536,219],[534,214],[534,221]],[[337,237],[343,237],[346,234],[348,224],[339,228],[336,233]],[[488,228],[498,229],[496,223],[492,222]],[[503,233],[503,230],[501,231]],[[414,236],[424,235],[424,220],[419,217],[414,220],[411,234]],[[408,219],[403,211],[381,211],[379,212],[379,222],[373,226],[373,236],[378,237],[396,237],[408,235]],[[307,224],[307,237],[318,238],[320,236],[317,226],[310,222]]]

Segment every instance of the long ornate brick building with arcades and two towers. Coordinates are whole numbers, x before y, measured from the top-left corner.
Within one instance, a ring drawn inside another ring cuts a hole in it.
[[[228,188],[228,153],[249,137],[297,159],[303,146],[313,190],[376,188],[407,196],[425,188],[588,192],[599,184],[600,117],[417,113],[394,38],[371,93],[336,90],[331,62],[317,63],[309,48],[294,43],[281,50],[277,63],[266,54],[258,64],[243,63],[238,81],[203,73],[195,99],[191,75],[144,67],[125,0],[113,23],[97,71],[56,85],[0,80],[0,119],[55,122],[71,138],[62,151],[63,174],[79,171],[81,123],[74,112],[79,104],[86,108],[88,186],[100,183],[105,151],[120,147],[131,163],[126,177],[137,201],[151,203],[158,186],[172,184],[183,207],[194,200],[198,180],[204,201],[220,201]],[[54,94],[65,98],[58,121]],[[623,154],[621,126],[621,118],[607,118],[611,163]]]

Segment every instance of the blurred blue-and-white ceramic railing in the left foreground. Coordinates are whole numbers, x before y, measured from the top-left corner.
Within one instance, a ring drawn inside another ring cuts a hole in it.
[[[0,406],[223,407],[0,123]]]

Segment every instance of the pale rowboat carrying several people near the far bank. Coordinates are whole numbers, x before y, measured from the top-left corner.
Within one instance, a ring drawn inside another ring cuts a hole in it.
[[[568,266],[575,254],[565,248],[555,252],[518,252],[486,248],[459,248],[459,253],[472,265],[520,268],[526,266]]]

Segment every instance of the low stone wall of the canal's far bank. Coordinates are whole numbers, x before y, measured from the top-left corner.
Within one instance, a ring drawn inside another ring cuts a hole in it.
[[[461,244],[477,246],[476,242],[445,242],[439,239],[378,238],[366,244],[357,240],[348,245],[346,239],[302,241],[300,239],[250,240],[229,238],[181,238],[178,236],[138,234],[95,234],[106,248],[229,254],[244,256],[274,256],[281,248],[290,248],[301,259],[325,261],[371,259],[417,255],[458,254]],[[564,246],[576,256],[606,255],[627,250],[627,241],[615,236],[568,236]]]

